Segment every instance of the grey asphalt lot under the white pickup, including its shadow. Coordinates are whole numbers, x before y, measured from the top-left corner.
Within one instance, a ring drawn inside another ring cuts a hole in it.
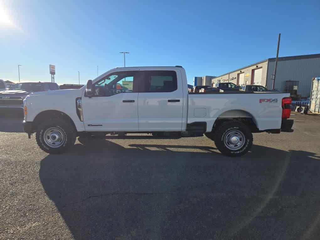
[[[206,137],[107,136],[48,155],[0,117],[1,239],[319,239],[320,117],[223,156]]]

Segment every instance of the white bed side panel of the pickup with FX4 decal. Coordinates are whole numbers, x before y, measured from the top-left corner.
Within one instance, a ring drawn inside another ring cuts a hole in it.
[[[188,94],[188,124],[206,122],[211,132],[217,118],[252,118],[261,131],[280,129],[284,92],[217,92]]]

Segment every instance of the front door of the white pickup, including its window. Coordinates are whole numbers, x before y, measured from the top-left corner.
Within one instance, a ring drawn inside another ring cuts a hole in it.
[[[82,98],[86,131],[139,130],[137,72],[113,72],[93,83],[94,96]]]

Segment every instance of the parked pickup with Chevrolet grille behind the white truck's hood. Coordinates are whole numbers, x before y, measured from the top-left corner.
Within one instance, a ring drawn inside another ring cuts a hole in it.
[[[23,100],[32,92],[59,90],[56,83],[17,83],[9,90],[0,92],[1,108],[23,108]]]

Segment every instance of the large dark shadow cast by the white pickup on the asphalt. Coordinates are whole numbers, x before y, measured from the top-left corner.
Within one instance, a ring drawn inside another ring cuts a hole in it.
[[[75,239],[289,239],[316,222],[314,153],[216,151],[95,140],[46,156],[39,176]]]

